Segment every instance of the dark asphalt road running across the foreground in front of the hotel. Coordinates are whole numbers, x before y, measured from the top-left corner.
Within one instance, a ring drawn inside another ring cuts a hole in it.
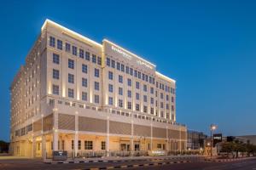
[[[45,164],[41,160],[0,160],[1,170],[23,170],[23,169],[44,169],[44,170],[84,170],[90,167],[114,167],[124,165],[135,165],[142,163],[167,162],[168,160],[152,161],[127,161],[127,162],[93,162],[93,163],[70,163],[70,164]],[[206,162],[202,160],[192,160],[189,163],[175,163],[161,166],[133,167],[122,169],[161,169],[161,170],[256,170],[256,158],[243,161],[230,162]]]

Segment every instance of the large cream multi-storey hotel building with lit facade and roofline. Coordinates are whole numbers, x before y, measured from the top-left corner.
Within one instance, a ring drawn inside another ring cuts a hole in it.
[[[186,150],[175,89],[136,54],[45,20],[10,88],[10,150],[32,157]]]

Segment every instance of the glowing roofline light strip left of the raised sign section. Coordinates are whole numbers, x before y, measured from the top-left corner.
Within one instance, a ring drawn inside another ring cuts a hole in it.
[[[81,39],[83,39],[83,40],[85,40],[85,41],[87,41],[87,42],[91,42],[91,43],[93,43],[93,44],[99,46],[100,48],[102,48],[102,44],[100,44],[100,43],[98,43],[98,42],[95,42],[95,41],[89,39],[88,37],[84,37],[84,36],[82,36],[81,34],[75,32],[75,31],[69,30],[68,28],[66,28],[66,27],[64,27],[64,26],[61,26],[61,25],[59,25],[59,24],[57,24],[57,23],[55,23],[54,21],[49,20],[49,19],[46,19],[46,20],[44,21],[44,25],[42,26],[41,31],[44,30],[44,27],[45,27],[48,23],[51,24],[51,25],[53,25],[53,26],[59,27],[59,28],[61,28],[62,30],[67,31],[67,32],[70,33],[70,34],[73,34],[74,36],[80,37]]]

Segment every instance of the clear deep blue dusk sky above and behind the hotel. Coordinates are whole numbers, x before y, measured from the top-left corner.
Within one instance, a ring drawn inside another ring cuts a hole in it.
[[[9,87],[44,20],[116,42],[177,81],[177,122],[209,133],[256,134],[255,1],[2,1],[0,139]]]

